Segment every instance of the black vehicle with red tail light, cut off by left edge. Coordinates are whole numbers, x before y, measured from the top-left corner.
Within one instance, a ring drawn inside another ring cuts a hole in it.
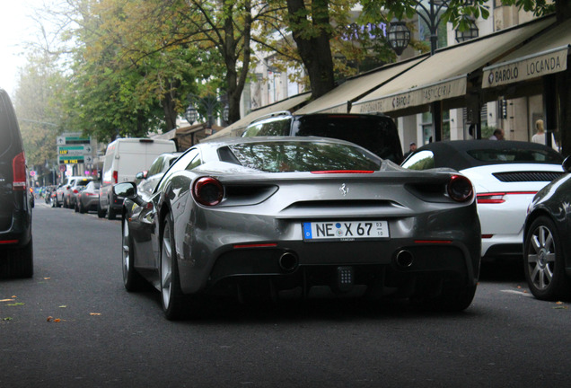
[[[31,204],[22,136],[8,93],[0,89],[0,278],[31,278]]]

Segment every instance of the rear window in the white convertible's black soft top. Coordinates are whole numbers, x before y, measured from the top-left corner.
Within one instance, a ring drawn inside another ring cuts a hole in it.
[[[502,163],[561,163],[561,155],[551,149],[521,148],[475,149],[467,153],[479,162]]]

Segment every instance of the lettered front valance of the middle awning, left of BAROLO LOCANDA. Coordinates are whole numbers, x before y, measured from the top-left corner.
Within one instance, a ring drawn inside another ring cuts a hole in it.
[[[379,99],[355,103],[355,110],[359,113],[385,113],[460,97],[466,94],[466,80],[466,75],[461,75],[437,84],[417,87],[406,93],[396,93]]]

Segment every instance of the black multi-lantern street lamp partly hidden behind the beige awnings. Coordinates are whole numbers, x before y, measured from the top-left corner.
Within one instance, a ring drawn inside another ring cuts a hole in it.
[[[441,12],[444,8],[448,8],[448,4],[452,2],[452,0],[414,0],[414,3],[417,4],[415,6],[415,11],[420,19],[422,19],[426,25],[428,26],[428,30],[430,31],[430,55],[434,55],[436,48],[438,48],[438,25],[441,22]],[[465,0],[465,5],[470,5],[471,0]],[[396,24],[396,25],[395,25]],[[456,40],[460,39],[472,39],[478,36],[478,27],[476,24],[473,23],[474,29],[470,31],[466,31],[464,35],[463,32],[459,35],[459,31],[456,31]],[[408,31],[408,36],[410,35],[410,31],[406,24],[402,22],[391,22],[391,27],[387,33],[387,40],[389,41],[389,45],[397,55],[400,55],[402,51],[406,48],[406,45],[402,47],[403,40],[400,39],[405,32],[404,30]],[[394,33],[391,33],[394,31]],[[470,34],[470,38],[468,38]],[[463,40],[462,40],[463,41]],[[408,42],[407,42],[408,45]],[[398,48],[398,49],[397,49]],[[435,141],[442,140],[442,101],[435,101],[430,104],[430,111],[432,113],[432,122],[433,122],[433,138]]]

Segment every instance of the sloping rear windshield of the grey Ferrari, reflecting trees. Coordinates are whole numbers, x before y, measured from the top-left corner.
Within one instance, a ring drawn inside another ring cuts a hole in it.
[[[380,158],[345,144],[264,142],[229,145],[227,148],[234,157],[219,151],[224,162],[239,163],[263,172],[374,171],[381,165]]]

